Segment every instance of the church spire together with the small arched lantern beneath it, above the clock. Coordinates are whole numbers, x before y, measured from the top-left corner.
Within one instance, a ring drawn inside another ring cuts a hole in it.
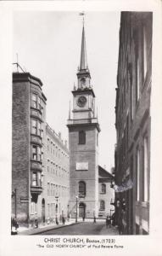
[[[87,66],[87,48],[86,48],[86,36],[84,23],[82,27],[82,37],[81,37],[81,62],[77,73],[78,77],[78,90],[84,90],[91,88],[90,79],[91,75]]]

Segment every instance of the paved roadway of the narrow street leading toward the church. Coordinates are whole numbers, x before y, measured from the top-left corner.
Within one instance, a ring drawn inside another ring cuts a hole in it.
[[[64,235],[64,236],[73,236],[73,235],[119,235],[118,230],[115,227],[106,228],[104,221],[98,221],[97,223],[93,222],[84,222],[73,224],[70,226],[64,226],[59,229],[53,229],[39,233],[39,235]]]

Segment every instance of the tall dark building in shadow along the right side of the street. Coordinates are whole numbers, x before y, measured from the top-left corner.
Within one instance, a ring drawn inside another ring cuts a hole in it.
[[[152,13],[122,12],[115,106],[115,183],[120,187],[116,193],[120,202],[118,219],[125,215],[126,234],[149,232],[151,65]]]

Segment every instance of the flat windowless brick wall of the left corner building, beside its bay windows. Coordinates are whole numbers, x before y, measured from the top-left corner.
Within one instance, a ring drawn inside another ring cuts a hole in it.
[[[19,222],[27,222],[29,206],[20,198],[29,199],[30,180],[30,84],[13,84],[13,148],[12,148],[12,190],[17,189],[16,207]],[[24,200],[25,201],[25,200]],[[12,214],[15,201],[12,199]]]

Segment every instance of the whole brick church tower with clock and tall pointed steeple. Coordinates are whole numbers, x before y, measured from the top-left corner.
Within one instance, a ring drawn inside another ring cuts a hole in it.
[[[87,66],[85,28],[82,28],[81,62],[77,88],[72,90],[73,109],[69,116],[70,205],[72,218],[98,217],[98,133],[95,94]]]

